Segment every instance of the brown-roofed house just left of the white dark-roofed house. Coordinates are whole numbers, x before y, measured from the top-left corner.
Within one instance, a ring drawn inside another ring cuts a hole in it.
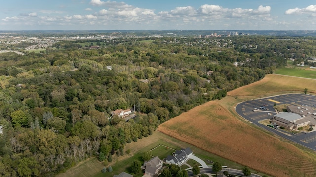
[[[156,177],[162,169],[163,161],[159,157],[153,157],[148,162],[144,162],[145,174],[143,177]]]

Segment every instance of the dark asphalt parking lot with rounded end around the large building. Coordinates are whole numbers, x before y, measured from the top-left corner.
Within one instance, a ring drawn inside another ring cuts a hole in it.
[[[273,127],[268,127],[266,125],[258,123],[258,121],[261,120],[271,119],[273,115],[277,114],[276,110],[273,108],[274,104],[290,104],[293,106],[301,106],[304,104],[304,106],[307,105],[310,107],[310,109],[316,112],[316,96],[305,94],[286,94],[249,100],[239,103],[236,106],[236,112],[246,120],[249,120],[253,124],[257,125],[258,127],[272,132],[286,140],[295,142],[301,146],[316,151],[316,131],[312,131],[309,133],[299,132],[296,134],[291,134],[282,129],[276,130]],[[316,127],[314,127],[314,130],[315,129]]]

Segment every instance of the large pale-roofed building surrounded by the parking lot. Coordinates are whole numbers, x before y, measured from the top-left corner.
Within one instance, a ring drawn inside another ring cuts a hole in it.
[[[292,112],[276,114],[271,120],[271,123],[285,127],[289,130],[297,130],[299,127],[308,126],[310,122],[310,120]]]

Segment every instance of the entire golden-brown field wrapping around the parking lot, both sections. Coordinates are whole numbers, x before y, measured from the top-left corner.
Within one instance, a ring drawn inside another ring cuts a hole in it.
[[[267,75],[261,81],[229,92],[231,96],[197,106],[168,120],[158,131],[276,177],[316,177],[315,152],[302,150],[261,131],[242,121],[233,111],[237,102],[249,96],[303,92],[304,88],[316,93],[316,80],[308,79],[307,82],[302,78]]]

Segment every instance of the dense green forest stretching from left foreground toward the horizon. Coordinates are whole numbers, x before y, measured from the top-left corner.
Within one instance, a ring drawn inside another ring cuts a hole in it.
[[[0,176],[54,176],[81,160],[111,161],[126,143],[286,58],[315,57],[312,39],[122,38],[61,41],[0,54]],[[131,109],[132,119],[113,115]]]

